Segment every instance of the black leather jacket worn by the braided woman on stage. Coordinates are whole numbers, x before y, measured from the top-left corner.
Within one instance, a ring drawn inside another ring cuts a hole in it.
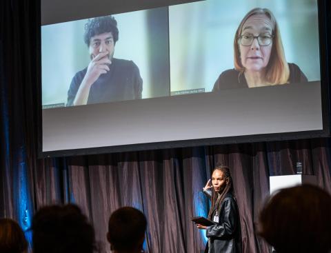
[[[204,191],[209,197],[211,192]],[[212,221],[214,216],[212,215]],[[219,213],[219,222],[217,225],[211,225],[206,229],[208,244],[205,247],[205,253],[241,253],[241,227],[237,202],[228,193],[221,202]]]

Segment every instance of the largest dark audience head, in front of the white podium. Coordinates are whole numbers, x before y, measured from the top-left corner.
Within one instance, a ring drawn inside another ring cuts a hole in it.
[[[331,196],[313,185],[280,190],[260,214],[260,234],[277,253],[331,250]]]

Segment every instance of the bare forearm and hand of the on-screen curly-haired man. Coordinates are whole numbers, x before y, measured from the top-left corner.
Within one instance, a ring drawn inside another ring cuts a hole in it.
[[[81,81],[77,95],[74,98],[73,105],[86,105],[88,103],[88,95],[92,84],[99,79],[101,74],[106,74],[109,71],[109,66],[112,61],[108,57],[109,52],[100,52],[88,64],[86,75]]]

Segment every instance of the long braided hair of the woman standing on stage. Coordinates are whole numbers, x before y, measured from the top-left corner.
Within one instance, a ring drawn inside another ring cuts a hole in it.
[[[212,188],[212,206],[210,207],[208,219],[212,219],[212,214],[217,211],[220,212],[221,209],[221,203],[223,199],[225,198],[225,195],[227,193],[231,193],[233,195],[233,184],[232,184],[232,178],[230,174],[230,169],[228,166],[225,165],[217,165],[216,168],[212,171],[214,173],[215,170],[220,170],[223,172],[223,177],[225,180],[225,186],[223,187],[223,190],[221,192],[215,192],[214,188]]]

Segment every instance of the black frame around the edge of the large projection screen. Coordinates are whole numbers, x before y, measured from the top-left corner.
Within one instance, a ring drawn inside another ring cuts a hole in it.
[[[157,5],[155,3],[145,3],[141,4],[140,8],[134,8],[130,6],[124,10],[123,6],[118,6],[114,8],[114,11],[119,12],[129,12],[134,10],[142,10],[146,8],[156,8],[163,6],[171,6],[179,3],[188,3],[194,1],[161,1]],[[76,155],[86,155],[86,154],[104,154],[104,153],[114,153],[114,152],[133,152],[141,150],[159,150],[167,148],[187,148],[202,145],[225,145],[234,143],[254,143],[263,141],[288,141],[295,139],[312,139],[312,138],[325,138],[330,136],[330,72],[328,72],[330,65],[330,51],[328,47],[331,46],[330,43],[330,3],[326,0],[318,0],[318,17],[319,17],[319,56],[320,56],[320,68],[321,68],[321,113],[323,120],[323,130],[310,130],[303,132],[285,132],[285,133],[272,133],[272,134],[254,134],[245,136],[227,136],[227,137],[217,137],[209,139],[190,139],[183,141],[162,141],[154,143],[139,143],[130,145],[114,145],[99,148],[82,148],[74,150],[56,150],[50,152],[43,152],[42,145],[42,106],[41,106],[41,26],[39,30],[39,43],[37,48],[37,55],[39,61],[39,80],[38,80],[38,92],[37,92],[37,106],[38,106],[38,123],[37,123],[37,139],[38,139],[38,156],[39,158],[46,157],[57,157],[57,156],[76,156]],[[54,3],[53,3],[54,4]],[[165,5],[164,5],[165,4]],[[112,14],[117,14],[112,13]],[[110,13],[108,13],[110,14]],[[322,53],[323,52],[323,53]]]

